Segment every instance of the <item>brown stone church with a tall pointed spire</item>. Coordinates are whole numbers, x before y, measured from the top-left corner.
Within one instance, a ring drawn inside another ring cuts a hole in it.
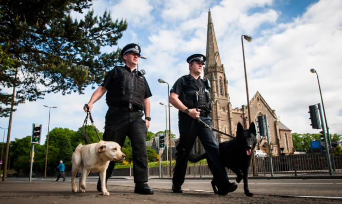
[[[248,119],[248,107],[246,105],[242,105],[241,108],[232,107],[228,93],[228,80],[226,77],[225,67],[220,60],[210,11],[208,14],[207,50],[204,76],[211,84],[210,95],[213,107],[211,117],[215,129],[235,137],[237,123],[241,123],[244,128],[247,129],[251,122],[254,122],[257,126],[258,116],[266,115],[272,156],[288,154],[294,151],[291,129],[278,120],[275,110],[267,104],[266,100],[259,92],[256,92],[250,100],[251,121]],[[244,96],[246,96],[246,94]],[[216,138],[219,143],[230,139],[226,135],[217,132]],[[267,138],[261,137],[259,133],[257,133],[257,145],[254,150],[262,150],[267,153],[267,155],[270,155]],[[197,153],[204,152],[198,138],[193,151]]]

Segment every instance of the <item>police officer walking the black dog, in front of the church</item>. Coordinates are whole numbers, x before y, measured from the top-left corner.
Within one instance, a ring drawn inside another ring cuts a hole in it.
[[[226,169],[220,162],[218,142],[215,133],[197,119],[212,126],[209,116],[212,108],[209,95],[209,81],[200,78],[206,57],[202,54],[191,55],[190,74],[180,77],[170,90],[170,102],[178,111],[179,143],[176,147],[177,158],[172,178],[172,191],[183,193],[182,185],[187,169],[190,151],[198,136],[206,154],[211,172],[213,188],[217,187],[218,195],[226,195],[237,188],[236,183],[229,183]],[[208,91],[206,91],[208,90]]]

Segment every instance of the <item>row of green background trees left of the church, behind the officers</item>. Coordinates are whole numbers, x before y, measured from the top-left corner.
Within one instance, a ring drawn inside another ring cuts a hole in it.
[[[86,132],[88,138],[91,143],[98,142],[97,135],[94,131],[94,127],[92,125],[86,126]],[[97,130],[100,138],[103,138],[103,133]],[[154,135],[152,132],[150,133]],[[46,143],[46,141],[45,141]],[[47,175],[53,176],[55,174],[54,169],[59,164],[59,160],[63,160],[63,163],[66,166],[66,170],[71,169],[71,156],[76,146],[79,144],[85,144],[82,134],[82,127],[78,128],[77,131],[70,130],[68,128],[53,128],[49,132],[49,146],[48,146],[48,161],[47,161]],[[31,135],[23,138],[23,139],[15,139],[11,144],[11,166],[17,172],[29,171],[30,163],[30,151],[31,151]],[[126,154],[126,161],[131,162],[133,160],[132,157],[132,147],[131,142],[126,138],[124,147],[122,151]],[[38,172],[45,171],[45,160],[46,160],[46,144],[34,145],[34,163],[33,163],[33,171],[37,170]],[[154,163],[157,161],[157,152],[147,147],[148,161]],[[165,164],[166,165],[166,164]],[[116,166],[120,166],[118,163]],[[124,166],[124,165],[123,165]],[[126,165],[129,167],[132,165]],[[116,167],[117,168],[117,167]]]

